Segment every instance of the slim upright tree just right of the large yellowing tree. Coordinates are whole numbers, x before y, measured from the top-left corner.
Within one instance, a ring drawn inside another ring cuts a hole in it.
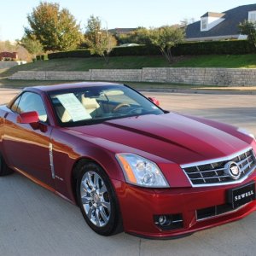
[[[108,27],[102,29],[102,21],[93,15],[87,21],[84,38],[91,53],[104,57],[105,61],[108,61],[109,53],[117,44],[116,39],[109,34]]]

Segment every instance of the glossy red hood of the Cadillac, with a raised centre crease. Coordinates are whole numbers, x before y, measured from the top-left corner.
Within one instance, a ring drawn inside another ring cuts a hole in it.
[[[177,113],[113,119],[68,130],[80,137],[90,135],[124,145],[124,152],[119,153],[128,153],[128,146],[177,164],[224,157],[249,145],[216,125],[212,127]],[[230,131],[234,131],[231,126]]]

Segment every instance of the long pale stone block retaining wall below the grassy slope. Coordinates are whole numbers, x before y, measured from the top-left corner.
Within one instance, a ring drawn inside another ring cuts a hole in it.
[[[90,69],[88,72],[19,71],[9,79],[162,82],[256,86],[253,68],[145,67],[143,69]]]

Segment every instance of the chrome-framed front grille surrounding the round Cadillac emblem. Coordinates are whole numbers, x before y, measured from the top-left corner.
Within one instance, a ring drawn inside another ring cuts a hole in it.
[[[230,161],[236,162],[240,167],[241,176],[236,181],[224,172],[225,164]],[[252,148],[227,158],[182,166],[183,171],[186,173],[187,177],[189,177],[194,187],[237,183],[250,175],[255,167],[256,158]]]

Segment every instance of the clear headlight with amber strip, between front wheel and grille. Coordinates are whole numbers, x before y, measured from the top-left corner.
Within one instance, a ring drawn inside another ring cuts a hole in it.
[[[137,154],[116,154],[127,183],[141,187],[169,188],[166,178],[152,161]]]

